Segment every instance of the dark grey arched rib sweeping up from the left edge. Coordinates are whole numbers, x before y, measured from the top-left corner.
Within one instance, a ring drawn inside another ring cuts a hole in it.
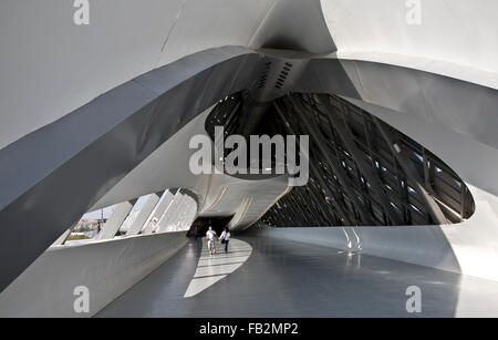
[[[181,126],[249,87],[258,60],[243,48],[193,54],[1,150],[0,256],[10,260],[0,290]]]

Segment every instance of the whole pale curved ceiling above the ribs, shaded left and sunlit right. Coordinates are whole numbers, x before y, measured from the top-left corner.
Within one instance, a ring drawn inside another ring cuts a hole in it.
[[[301,13],[317,14],[319,7],[299,2],[94,1],[91,24],[77,27],[71,2],[2,1],[0,148],[116,85],[194,52],[222,45],[260,48],[267,43],[264,34],[271,41],[279,32],[287,41],[303,41],[307,37],[292,30],[293,23]],[[343,59],[421,68],[498,87],[494,1],[424,1],[422,25],[406,24],[404,1],[321,0],[321,6]],[[287,19],[281,18],[284,13],[292,14],[284,24],[270,20]],[[330,50],[321,22],[302,48]],[[262,27],[272,24],[276,33],[263,33]]]

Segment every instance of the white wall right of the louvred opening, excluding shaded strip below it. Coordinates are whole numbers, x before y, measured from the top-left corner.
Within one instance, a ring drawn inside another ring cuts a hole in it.
[[[476,210],[461,224],[442,226],[461,268],[470,276],[498,280],[498,150],[436,122],[423,121],[383,107],[361,104],[428,150],[436,151],[465,181]]]

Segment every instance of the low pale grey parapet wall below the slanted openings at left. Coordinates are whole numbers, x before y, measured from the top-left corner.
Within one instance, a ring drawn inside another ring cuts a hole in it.
[[[187,244],[185,233],[133,236],[45,251],[0,295],[0,317],[87,318]],[[74,288],[89,288],[90,311],[76,313]]]

